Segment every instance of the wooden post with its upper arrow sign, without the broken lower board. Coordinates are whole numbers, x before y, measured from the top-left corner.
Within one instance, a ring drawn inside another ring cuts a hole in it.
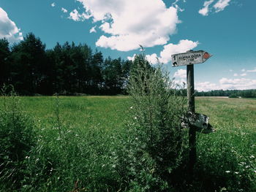
[[[171,55],[173,66],[187,66],[187,100],[188,111],[195,114],[195,86],[194,86],[194,64],[201,64],[208,60],[212,55],[204,50],[178,53]],[[189,170],[193,172],[196,161],[196,131],[197,124],[189,122]]]

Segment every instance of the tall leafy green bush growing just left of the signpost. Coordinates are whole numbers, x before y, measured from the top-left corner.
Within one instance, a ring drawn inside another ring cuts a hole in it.
[[[161,66],[150,66],[144,55],[137,55],[133,65],[128,89],[132,121],[118,138],[116,170],[130,191],[163,191],[186,146],[180,127],[185,99],[175,95]]]

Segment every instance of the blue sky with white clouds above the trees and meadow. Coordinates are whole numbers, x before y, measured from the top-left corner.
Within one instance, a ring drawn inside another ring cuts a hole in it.
[[[19,42],[34,33],[47,49],[86,43],[104,57],[133,59],[143,46],[154,65],[186,82],[186,66],[171,55],[205,50],[195,64],[195,89],[256,88],[255,0],[0,0],[0,38]]]

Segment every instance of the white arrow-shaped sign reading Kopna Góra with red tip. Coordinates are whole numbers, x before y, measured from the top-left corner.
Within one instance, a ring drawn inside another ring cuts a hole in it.
[[[212,55],[204,50],[188,51],[172,55],[173,66],[185,66],[192,64],[202,64]]]

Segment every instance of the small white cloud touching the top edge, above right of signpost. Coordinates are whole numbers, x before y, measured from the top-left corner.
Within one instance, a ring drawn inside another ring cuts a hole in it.
[[[215,12],[220,12],[223,11],[225,9],[225,7],[227,7],[230,3],[231,0],[218,0],[212,7],[210,7],[210,5],[214,2],[215,0],[209,0],[209,1],[205,1],[203,3],[203,8],[200,9],[198,12],[203,15],[203,16],[207,16],[209,12],[212,11],[212,9],[214,9]]]

